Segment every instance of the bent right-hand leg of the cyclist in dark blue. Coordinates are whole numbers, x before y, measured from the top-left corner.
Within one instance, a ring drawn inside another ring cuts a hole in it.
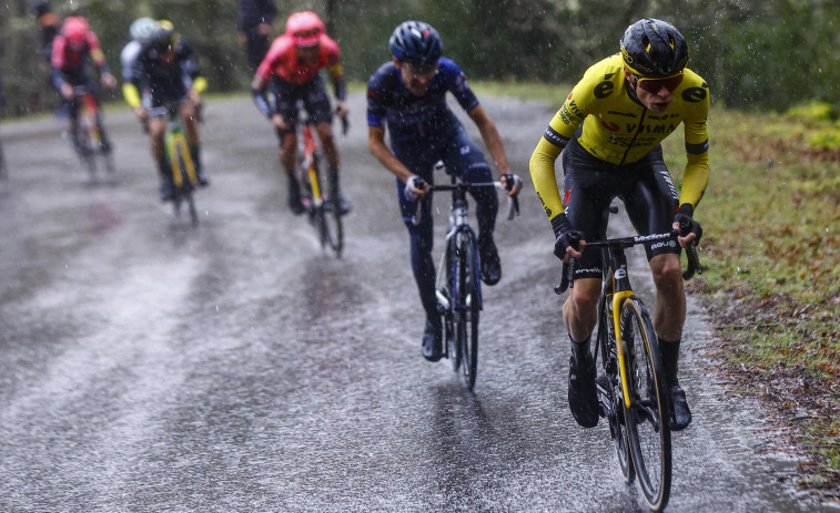
[[[478,145],[459,123],[453,126],[453,133],[446,135],[446,150],[443,157],[446,168],[466,183],[493,182],[493,171]],[[502,260],[493,240],[498,214],[498,197],[495,188],[470,191],[470,195],[475,198],[478,218],[478,256],[482,264],[482,279],[487,285],[495,285],[502,278]]]

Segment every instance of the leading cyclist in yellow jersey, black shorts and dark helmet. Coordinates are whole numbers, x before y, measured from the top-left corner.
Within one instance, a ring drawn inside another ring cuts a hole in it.
[[[709,179],[706,119],[709,89],[686,69],[688,44],[670,23],[642,19],[627,28],[621,52],[589,68],[557,112],[530,157],[530,174],[555,232],[555,255],[575,257],[575,287],[563,307],[571,340],[569,408],[580,425],[598,423],[589,339],[597,321],[600,255],[581,254],[586,239],[605,238],[610,202],[620,198],[641,235],[679,229],[679,246],[697,244],[694,211]],[[660,142],[684,125],[688,158],[679,193],[662,162]],[[564,195],[555,161],[563,153]],[[579,244],[575,244],[579,239]],[[671,394],[671,429],[691,421],[677,379],[686,317],[677,244],[645,249],[657,289],[654,324]]]

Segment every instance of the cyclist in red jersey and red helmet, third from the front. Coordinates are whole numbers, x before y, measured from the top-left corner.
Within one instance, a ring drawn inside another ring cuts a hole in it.
[[[256,70],[251,85],[254,101],[269,117],[280,138],[280,162],[289,176],[289,206],[295,214],[304,212],[301,192],[294,178],[297,157],[297,103],[303,103],[314,124],[330,166],[330,186],[338,188],[338,150],[333,137],[333,111],[320,72],[326,69],[335,88],[335,113],[346,117],[346,89],[338,44],[326,34],[324,22],[311,11],[289,17],[286,32],[272,43]],[[271,83],[275,101],[269,102],[265,92]],[[338,211],[346,214],[350,203],[341,193]]]

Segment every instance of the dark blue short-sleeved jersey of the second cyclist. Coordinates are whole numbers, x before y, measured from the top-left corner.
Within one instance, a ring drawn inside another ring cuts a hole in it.
[[[459,126],[446,106],[446,92],[469,112],[478,105],[458,65],[446,58],[437,63],[437,74],[423,96],[415,96],[403,83],[394,62],[379,66],[367,82],[367,125],[387,124],[392,141],[434,137]]]

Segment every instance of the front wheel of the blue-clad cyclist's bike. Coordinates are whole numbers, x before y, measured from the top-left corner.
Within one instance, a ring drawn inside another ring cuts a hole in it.
[[[462,300],[459,301],[458,325],[461,330],[462,373],[468,390],[475,387],[478,372],[478,267],[474,238],[467,232],[462,233],[462,246],[458,254],[461,261],[458,283]]]

